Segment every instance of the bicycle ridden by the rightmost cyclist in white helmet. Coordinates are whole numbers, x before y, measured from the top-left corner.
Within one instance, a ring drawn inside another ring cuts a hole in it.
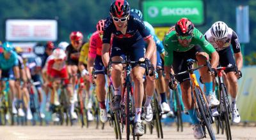
[[[224,133],[224,128],[225,128],[225,134],[227,139],[232,139],[231,136],[231,130],[230,130],[230,119],[231,119],[231,107],[230,103],[228,101],[228,94],[227,94],[227,88],[225,87],[225,84],[223,83],[223,74],[222,71],[224,70],[235,70],[235,73],[238,73],[237,67],[232,66],[232,67],[217,67],[214,69],[216,71],[215,76],[218,77],[218,83],[216,82],[216,85],[218,86],[217,90],[217,97],[220,101],[220,106],[218,106],[218,112],[219,115],[216,117],[217,120],[217,134],[220,133],[220,128],[221,128],[221,134]]]

